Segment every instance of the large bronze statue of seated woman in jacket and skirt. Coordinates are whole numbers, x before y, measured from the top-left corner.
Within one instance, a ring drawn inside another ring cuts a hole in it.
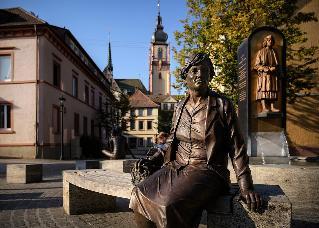
[[[141,165],[162,168],[137,185],[131,194],[130,210],[138,227],[197,227],[204,204],[230,189],[228,153],[241,194],[248,208],[257,211],[263,199],[254,192],[249,158],[234,106],[230,99],[208,89],[215,75],[209,57],[189,57],[181,76],[189,96],[174,109],[172,129],[163,146]]]

